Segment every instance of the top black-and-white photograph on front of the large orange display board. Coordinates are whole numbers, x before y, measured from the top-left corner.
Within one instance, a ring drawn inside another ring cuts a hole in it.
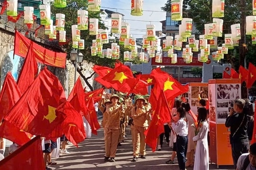
[[[219,84],[217,85],[217,99],[239,99],[238,84]]]

